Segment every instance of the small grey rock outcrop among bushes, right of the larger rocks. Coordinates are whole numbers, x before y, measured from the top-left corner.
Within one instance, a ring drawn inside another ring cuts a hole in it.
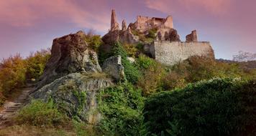
[[[124,80],[124,67],[120,55],[106,59],[102,65],[102,70],[111,77],[114,77],[116,81]]]

